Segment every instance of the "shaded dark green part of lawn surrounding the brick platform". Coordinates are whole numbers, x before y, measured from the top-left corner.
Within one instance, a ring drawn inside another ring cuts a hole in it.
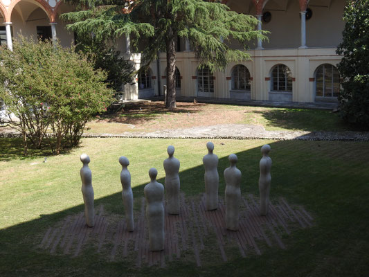
[[[336,147],[332,146],[335,143],[319,143],[323,144],[323,147],[318,146],[317,142],[306,141],[297,141],[293,145],[287,141],[271,143],[272,202],[273,199],[282,196],[291,203],[302,204],[314,215],[317,224],[312,229],[292,233],[287,242],[287,250],[272,247],[267,251],[262,251],[262,256],[248,255],[247,261],[239,257],[226,263],[219,262],[217,258],[220,257],[215,256],[215,253],[209,253],[208,258],[213,265],[205,268],[196,267],[195,260],[191,262],[187,260],[167,263],[165,269],[156,267],[134,269],[126,262],[109,260],[106,256],[102,256],[104,253],[96,253],[96,249],[82,249],[82,254],[75,258],[71,255],[52,255],[50,251],[37,249],[42,236],[49,227],[54,226],[68,215],[82,213],[81,195],[79,206],[66,208],[64,211],[50,215],[40,215],[41,217],[37,220],[0,230],[0,253],[6,253],[6,255],[1,255],[1,275],[51,276],[59,273],[61,276],[72,276],[83,273],[87,276],[92,274],[94,276],[121,276],[122,272],[127,272],[136,276],[147,276],[150,272],[160,272],[161,276],[197,276],[204,273],[219,276],[219,274],[227,274],[229,270],[237,269],[240,273],[249,272],[250,276],[296,276],[296,273],[303,275],[312,273],[314,269],[317,276],[319,274],[334,276],[337,273],[341,273],[342,276],[345,274],[360,276],[360,273],[369,269],[365,259],[355,258],[362,257],[362,249],[355,247],[357,241],[361,241],[363,247],[369,246],[368,234],[365,231],[365,226],[369,222],[368,218],[362,216],[364,211],[368,211],[368,203],[358,201],[358,197],[361,199],[369,197],[367,184],[363,181],[365,179],[363,176],[350,177],[343,173],[342,168],[350,168],[350,160],[330,161],[327,159],[327,156],[336,154]],[[216,154],[216,149],[222,146],[220,144],[215,146]],[[243,175],[242,195],[249,193],[258,195],[260,148],[236,154],[239,160],[237,167]],[[223,170],[228,165],[228,157],[219,159],[219,195],[222,196],[225,188]],[[335,168],[335,170],[327,170],[327,167]],[[203,166],[183,170],[180,172],[180,177],[181,191],[186,194],[186,197],[199,195],[204,191]],[[348,180],[354,181],[355,186],[351,188],[347,186]],[[147,183],[149,181],[147,175]],[[164,184],[164,179],[158,181]],[[80,184],[73,186],[80,186]],[[135,208],[138,208],[139,199],[143,197],[144,186],[145,184],[140,184],[133,188]],[[106,213],[124,218],[121,193],[96,199],[95,206],[100,205],[104,206]],[[348,233],[350,233],[349,236]],[[346,249],[350,251],[346,252]],[[330,253],[328,257],[327,253]],[[323,257],[329,258],[330,262]],[[354,269],[352,265],[355,265]]]

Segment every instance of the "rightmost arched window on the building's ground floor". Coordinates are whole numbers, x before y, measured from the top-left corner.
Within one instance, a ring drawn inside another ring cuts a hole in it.
[[[339,96],[339,71],[332,64],[322,64],[315,71],[315,96]]]

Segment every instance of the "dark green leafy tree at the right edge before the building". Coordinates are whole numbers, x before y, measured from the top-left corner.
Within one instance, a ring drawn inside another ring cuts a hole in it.
[[[337,53],[343,55],[339,102],[341,115],[354,125],[369,126],[369,0],[349,1],[345,30]]]

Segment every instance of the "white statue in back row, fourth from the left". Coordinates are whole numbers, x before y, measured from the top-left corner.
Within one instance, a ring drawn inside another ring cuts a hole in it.
[[[165,195],[170,215],[179,215],[179,160],[173,157],[174,147],[168,146],[169,158],[164,161]]]

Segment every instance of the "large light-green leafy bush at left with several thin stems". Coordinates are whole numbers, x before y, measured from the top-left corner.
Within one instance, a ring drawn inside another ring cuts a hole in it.
[[[24,154],[28,139],[42,147],[48,129],[57,154],[78,145],[87,121],[111,103],[106,74],[74,48],[24,37],[13,45],[14,51],[0,51],[0,98],[19,119],[11,118],[10,124],[23,134]]]

